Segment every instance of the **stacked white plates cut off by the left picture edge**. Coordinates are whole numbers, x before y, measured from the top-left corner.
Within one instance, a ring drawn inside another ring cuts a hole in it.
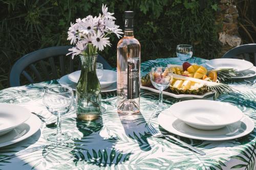
[[[14,104],[0,104],[0,147],[30,137],[40,125],[40,119],[28,109]]]

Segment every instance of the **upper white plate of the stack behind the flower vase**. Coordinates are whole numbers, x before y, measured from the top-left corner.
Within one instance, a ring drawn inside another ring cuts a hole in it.
[[[68,78],[72,81],[77,83],[79,80],[81,74],[81,70],[72,72],[69,74]],[[106,88],[111,86],[113,83],[116,83],[117,76],[116,76],[116,71],[104,69],[103,70],[103,76],[101,80],[99,81],[101,88]]]

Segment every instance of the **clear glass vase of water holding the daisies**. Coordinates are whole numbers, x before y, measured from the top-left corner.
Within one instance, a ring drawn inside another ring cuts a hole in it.
[[[96,74],[97,55],[81,59],[81,75],[76,86],[76,115],[83,120],[93,120],[101,114],[100,83]]]

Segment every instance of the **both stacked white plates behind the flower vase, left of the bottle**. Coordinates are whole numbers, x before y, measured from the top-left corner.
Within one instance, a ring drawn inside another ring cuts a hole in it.
[[[72,72],[69,75],[63,76],[59,79],[61,86],[68,86],[76,90],[76,84],[79,80],[81,70]],[[117,74],[116,71],[104,69],[103,76],[100,80],[101,92],[115,91],[116,90]]]

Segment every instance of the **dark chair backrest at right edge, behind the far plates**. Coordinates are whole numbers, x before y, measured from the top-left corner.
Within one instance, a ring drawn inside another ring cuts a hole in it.
[[[236,58],[250,61],[255,66],[256,64],[256,44],[244,44],[232,48],[226,52],[222,58]]]

